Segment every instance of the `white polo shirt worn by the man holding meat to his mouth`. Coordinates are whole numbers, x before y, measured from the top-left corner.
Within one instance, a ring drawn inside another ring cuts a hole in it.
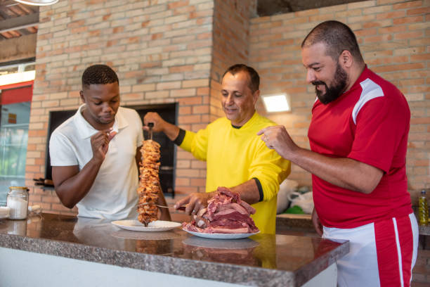
[[[82,116],[82,107],[51,135],[51,165],[79,165],[93,157],[91,136],[98,132]],[[138,167],[136,149],[142,145],[142,121],[136,110],[119,107],[113,129],[117,134],[109,143],[105,160],[89,192],[77,203],[78,216],[110,220],[137,217]]]

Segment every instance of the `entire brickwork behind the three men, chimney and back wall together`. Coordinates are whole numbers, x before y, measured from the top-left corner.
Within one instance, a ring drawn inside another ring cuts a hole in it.
[[[27,186],[44,177],[49,110],[79,106],[80,76],[93,63],[107,63],[118,72],[123,105],[176,101],[179,125],[193,131],[223,115],[223,71],[233,63],[249,63],[261,75],[262,94],[285,91],[292,96],[292,113],[268,117],[308,147],[315,95],[305,82],[299,45],[312,27],[334,18],[356,32],[370,68],[408,98],[412,200],[419,189],[430,187],[429,0],[363,1],[262,18],[255,17],[255,0],[122,3],[74,0],[41,7]],[[265,113],[261,103],[258,109]],[[178,196],[204,191],[205,172],[204,162],[178,149]],[[311,175],[295,165],[290,178],[311,184]],[[53,191],[34,189],[31,200],[44,210],[70,212]]]

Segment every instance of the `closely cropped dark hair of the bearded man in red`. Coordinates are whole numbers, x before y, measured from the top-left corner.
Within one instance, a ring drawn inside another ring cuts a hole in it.
[[[344,50],[348,50],[355,60],[360,63],[363,62],[363,56],[361,56],[356,35],[344,23],[334,20],[320,23],[309,32],[308,36],[301,43],[301,48],[303,49],[320,42],[325,44],[327,55],[332,57],[333,60],[337,61],[340,54]]]

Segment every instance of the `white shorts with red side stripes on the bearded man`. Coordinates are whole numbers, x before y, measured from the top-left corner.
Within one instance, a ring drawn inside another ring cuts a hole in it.
[[[410,286],[418,248],[413,213],[352,229],[324,227],[323,238],[349,241],[349,253],[337,260],[337,286]]]

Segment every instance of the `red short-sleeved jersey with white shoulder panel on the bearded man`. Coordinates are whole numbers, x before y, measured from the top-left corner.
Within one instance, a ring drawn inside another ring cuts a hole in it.
[[[367,67],[337,100],[327,105],[315,101],[308,131],[311,150],[384,171],[370,194],[313,175],[313,200],[324,226],[354,228],[412,212],[405,169],[409,123],[403,94]]]

